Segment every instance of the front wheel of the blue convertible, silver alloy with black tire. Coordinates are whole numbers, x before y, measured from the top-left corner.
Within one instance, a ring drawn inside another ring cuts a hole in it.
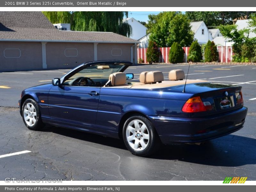
[[[22,119],[30,130],[39,130],[44,127],[38,104],[33,99],[27,99],[22,105]]]

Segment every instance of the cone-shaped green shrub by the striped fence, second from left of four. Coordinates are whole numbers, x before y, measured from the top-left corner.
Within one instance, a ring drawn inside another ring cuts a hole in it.
[[[174,42],[169,52],[170,63],[182,63],[184,58],[184,50],[177,42]]]

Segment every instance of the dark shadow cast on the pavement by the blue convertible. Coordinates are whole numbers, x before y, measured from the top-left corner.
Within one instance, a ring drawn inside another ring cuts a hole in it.
[[[127,156],[131,155],[125,147],[123,140],[53,126],[46,126],[42,131],[53,132],[103,146],[124,149],[127,150]],[[161,145],[160,150],[158,150],[156,154],[146,158],[184,161],[212,166],[236,167],[246,164],[256,164],[255,146],[256,139],[227,135],[206,141],[200,146],[189,144]]]

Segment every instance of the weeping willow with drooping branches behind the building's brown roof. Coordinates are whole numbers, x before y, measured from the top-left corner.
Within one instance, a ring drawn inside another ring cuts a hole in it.
[[[132,27],[123,22],[124,14],[128,12],[48,12],[44,15],[52,23],[70,23],[71,30],[75,31],[103,31],[114,32],[123,36],[132,35]]]

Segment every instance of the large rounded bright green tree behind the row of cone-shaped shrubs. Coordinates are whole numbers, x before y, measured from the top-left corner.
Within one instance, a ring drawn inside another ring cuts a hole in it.
[[[190,46],[194,38],[188,18],[181,12],[163,12],[151,28],[149,39],[160,47],[169,47],[174,42]]]

